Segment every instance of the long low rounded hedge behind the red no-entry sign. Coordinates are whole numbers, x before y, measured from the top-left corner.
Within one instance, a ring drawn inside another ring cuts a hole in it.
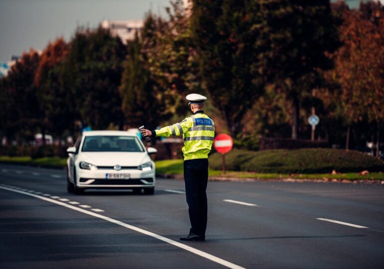
[[[331,173],[384,171],[383,160],[355,150],[329,148],[274,149],[248,151],[233,149],[225,155],[226,169],[259,173]],[[212,169],[221,169],[221,155],[209,157]]]

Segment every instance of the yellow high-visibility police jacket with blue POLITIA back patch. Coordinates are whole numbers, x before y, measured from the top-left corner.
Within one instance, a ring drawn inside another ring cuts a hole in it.
[[[183,134],[184,160],[207,158],[214,139],[214,123],[203,113],[185,118],[182,122],[155,130],[156,136]]]

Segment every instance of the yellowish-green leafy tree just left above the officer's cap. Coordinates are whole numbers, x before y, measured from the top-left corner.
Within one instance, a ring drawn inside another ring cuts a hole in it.
[[[165,117],[184,115],[188,111],[185,96],[201,92],[189,16],[181,0],[171,5],[168,20],[153,17],[153,33],[143,31],[143,53],[159,87],[159,102],[166,104]]]

